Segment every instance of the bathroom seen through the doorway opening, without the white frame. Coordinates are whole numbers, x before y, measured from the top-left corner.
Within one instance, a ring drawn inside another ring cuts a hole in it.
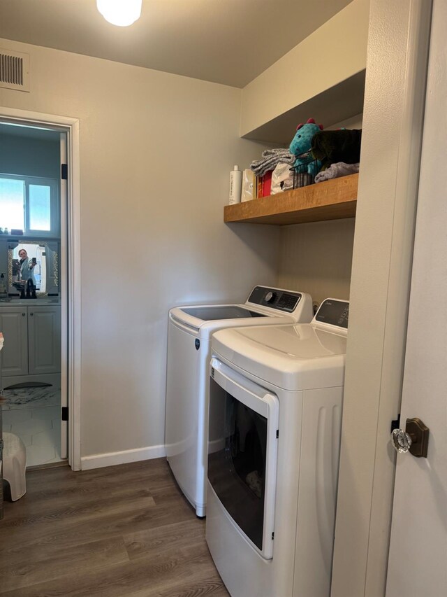
[[[0,123],[3,432],[24,442],[27,467],[67,457],[61,437],[61,135]]]

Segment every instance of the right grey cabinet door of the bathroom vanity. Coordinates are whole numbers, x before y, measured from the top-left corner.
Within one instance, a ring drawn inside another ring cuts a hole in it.
[[[29,374],[61,370],[60,307],[28,307]]]

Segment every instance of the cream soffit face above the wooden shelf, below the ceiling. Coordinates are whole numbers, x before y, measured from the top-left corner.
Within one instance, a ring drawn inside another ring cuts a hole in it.
[[[329,121],[323,113],[339,113],[342,116],[336,120],[341,120],[361,111],[360,101],[360,110],[346,114],[347,105],[358,106],[349,93],[351,87],[330,100],[322,102],[318,97],[365,70],[368,15],[369,0],[353,0],[246,85],[242,93],[241,135],[247,136],[272,120],[276,125],[278,117],[293,111],[295,106],[309,105],[312,112],[307,118],[316,118],[325,126]],[[337,101],[338,105],[325,106],[328,101]]]

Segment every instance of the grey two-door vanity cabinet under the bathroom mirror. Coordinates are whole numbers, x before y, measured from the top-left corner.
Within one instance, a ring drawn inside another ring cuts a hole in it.
[[[5,338],[3,378],[61,371],[59,305],[0,307],[0,331]]]

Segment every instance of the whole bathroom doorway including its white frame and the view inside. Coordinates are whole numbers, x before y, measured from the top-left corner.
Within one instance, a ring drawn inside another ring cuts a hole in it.
[[[11,185],[22,189],[22,200],[15,197],[21,210],[14,227],[0,223],[0,331],[9,330],[1,354],[3,430],[22,437],[28,467],[65,462],[79,470],[78,120],[0,108],[3,141],[6,134],[15,140],[2,143],[7,156],[0,151],[0,207],[1,190]],[[22,147],[21,169],[11,165],[14,146]],[[10,194],[8,202],[10,212]],[[0,216],[11,214],[0,209]],[[34,269],[28,279],[24,258]]]

